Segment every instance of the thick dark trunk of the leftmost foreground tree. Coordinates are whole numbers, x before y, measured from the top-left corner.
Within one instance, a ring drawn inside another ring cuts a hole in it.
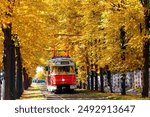
[[[4,73],[5,73],[5,100],[15,99],[15,52],[14,42],[11,40],[11,24],[3,24],[4,33]]]

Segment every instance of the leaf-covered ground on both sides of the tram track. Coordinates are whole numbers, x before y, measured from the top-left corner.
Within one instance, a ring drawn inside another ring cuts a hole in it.
[[[24,91],[19,100],[46,100],[41,90],[45,88],[45,85],[37,85],[32,83],[32,85]],[[82,90],[77,89],[74,93],[60,93],[59,95],[62,99],[72,99],[72,100],[150,100],[149,98],[142,98],[141,95],[125,95],[122,96],[119,93],[100,93],[98,91]],[[55,95],[54,95],[55,96]]]

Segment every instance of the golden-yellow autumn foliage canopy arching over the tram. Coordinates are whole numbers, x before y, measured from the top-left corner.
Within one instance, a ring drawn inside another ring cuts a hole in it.
[[[19,0],[14,6],[1,1],[0,21],[12,22],[23,65],[32,75],[37,65],[50,58],[49,48],[68,49],[81,79],[86,78],[91,64],[99,68],[109,65],[113,71],[142,67],[143,42],[149,35],[145,36],[144,8],[139,0]],[[4,15],[10,12],[8,6],[13,7],[11,18]],[[122,26],[126,32],[125,61],[121,60]],[[2,52],[0,48],[0,67]]]

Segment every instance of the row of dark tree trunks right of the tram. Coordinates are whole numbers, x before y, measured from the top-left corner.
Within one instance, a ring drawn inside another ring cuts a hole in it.
[[[141,3],[143,4],[143,7],[145,8],[145,29],[146,29],[146,35],[149,35],[149,29],[150,29],[150,2],[149,0],[140,0]],[[142,32],[142,27],[140,26],[140,32]],[[120,44],[121,44],[121,60],[122,63],[125,61],[125,50],[126,50],[126,40],[125,40],[126,32],[124,29],[124,26],[120,28]],[[149,68],[150,68],[150,40],[146,39],[144,42],[144,49],[143,49],[143,58],[144,58],[144,67],[143,67],[143,90],[142,90],[142,96],[143,97],[148,97],[149,96]],[[88,59],[87,59],[88,60]],[[92,66],[91,66],[92,67]],[[91,71],[91,76],[89,77],[89,68],[87,68],[87,89],[94,90],[94,77],[95,77],[95,90],[97,90],[97,74],[94,76],[94,71]],[[100,68],[100,91],[104,92],[104,86],[103,86],[103,72],[104,70]],[[96,72],[97,73],[97,72]],[[108,85],[110,86],[110,91],[113,92],[112,90],[112,84],[111,84],[111,74],[110,71],[107,71],[107,78],[108,78]],[[122,73],[122,78],[121,78],[121,94],[125,95],[126,94],[126,86],[125,86],[125,81],[126,81],[126,75]]]

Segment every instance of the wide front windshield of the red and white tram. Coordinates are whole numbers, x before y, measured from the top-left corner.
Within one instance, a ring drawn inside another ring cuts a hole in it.
[[[53,66],[52,74],[73,74],[75,73],[73,66]]]

